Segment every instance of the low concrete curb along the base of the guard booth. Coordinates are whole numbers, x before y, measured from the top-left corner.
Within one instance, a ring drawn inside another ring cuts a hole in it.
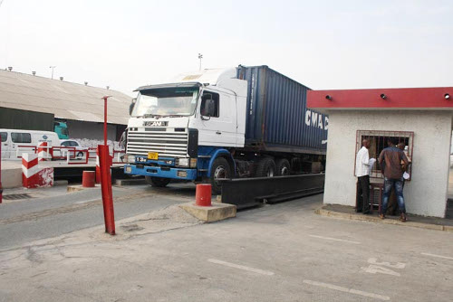
[[[365,215],[355,215],[347,212],[334,212],[325,210],[322,207],[314,210],[314,213],[333,218],[342,218],[349,219],[352,221],[360,222],[377,222],[401,226],[410,226],[414,228],[426,229],[426,230],[436,230],[436,231],[451,231],[453,232],[453,226],[450,225],[441,225],[441,224],[432,224],[432,223],[423,223],[423,222],[400,222],[399,220],[385,219],[381,220],[379,217],[365,216]]]

